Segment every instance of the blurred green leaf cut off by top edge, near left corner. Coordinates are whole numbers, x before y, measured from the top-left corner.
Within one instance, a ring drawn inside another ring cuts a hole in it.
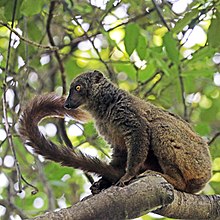
[[[42,0],[24,0],[21,4],[21,13],[25,16],[32,16],[40,13],[44,1]]]

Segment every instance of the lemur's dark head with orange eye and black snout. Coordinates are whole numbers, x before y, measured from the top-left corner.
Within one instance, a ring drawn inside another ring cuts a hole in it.
[[[103,74],[97,70],[83,73],[77,76],[70,85],[69,96],[66,99],[64,107],[66,109],[75,109],[91,99],[95,87],[104,78]]]

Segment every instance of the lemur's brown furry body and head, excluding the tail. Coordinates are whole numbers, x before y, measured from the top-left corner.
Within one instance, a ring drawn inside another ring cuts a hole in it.
[[[113,148],[110,164],[124,173],[119,185],[152,169],[176,189],[197,192],[211,177],[208,145],[187,122],[120,90],[98,71],[73,80],[65,106],[83,106],[95,119]]]

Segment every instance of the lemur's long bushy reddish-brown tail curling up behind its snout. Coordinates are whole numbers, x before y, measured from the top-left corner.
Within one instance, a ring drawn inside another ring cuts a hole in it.
[[[89,114],[81,109],[65,109],[63,107],[64,102],[64,97],[50,93],[37,96],[28,103],[20,118],[19,133],[23,141],[32,146],[36,153],[63,166],[96,173],[111,182],[117,181],[120,178],[120,174],[112,166],[80,151],[75,152],[65,146],[58,147],[47,140],[39,131],[38,123],[45,117],[62,118],[71,116],[80,121],[85,121],[89,118]]]

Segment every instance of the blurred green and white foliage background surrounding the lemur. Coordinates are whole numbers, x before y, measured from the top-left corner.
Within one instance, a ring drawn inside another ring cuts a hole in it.
[[[0,218],[33,217],[89,194],[82,172],[33,154],[17,126],[31,98],[66,95],[72,78],[93,69],[189,121],[213,159],[202,193],[220,194],[219,36],[218,0],[1,0]],[[111,150],[92,122],[66,118],[65,125],[76,149],[109,161]],[[65,144],[56,119],[40,129]]]

